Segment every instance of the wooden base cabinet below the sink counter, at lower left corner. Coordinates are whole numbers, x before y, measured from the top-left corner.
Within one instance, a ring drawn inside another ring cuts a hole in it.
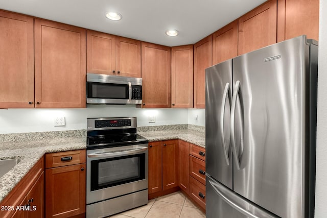
[[[44,217],[44,160],[33,166],[24,178],[0,203],[0,217],[34,218]],[[8,206],[11,208],[8,209]],[[3,207],[1,207],[3,208]]]

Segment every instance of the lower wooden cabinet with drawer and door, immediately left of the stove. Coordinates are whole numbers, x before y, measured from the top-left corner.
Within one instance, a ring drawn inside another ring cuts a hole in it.
[[[45,169],[45,217],[85,214],[85,155],[85,150],[45,155],[46,167],[51,167]],[[76,162],[76,159],[79,161]],[[61,166],[52,167],[53,165]]]

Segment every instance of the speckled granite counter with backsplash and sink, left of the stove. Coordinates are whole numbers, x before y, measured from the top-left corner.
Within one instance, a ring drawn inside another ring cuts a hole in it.
[[[85,130],[0,135],[0,160],[22,158],[0,178],[0,202],[45,153],[85,148]]]

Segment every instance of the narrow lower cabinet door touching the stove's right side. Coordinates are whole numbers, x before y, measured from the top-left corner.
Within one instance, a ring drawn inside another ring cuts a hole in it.
[[[162,142],[149,142],[149,194],[162,190]]]

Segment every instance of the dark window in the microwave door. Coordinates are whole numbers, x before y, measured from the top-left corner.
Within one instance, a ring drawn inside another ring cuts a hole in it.
[[[87,82],[87,98],[128,99],[128,85]]]

